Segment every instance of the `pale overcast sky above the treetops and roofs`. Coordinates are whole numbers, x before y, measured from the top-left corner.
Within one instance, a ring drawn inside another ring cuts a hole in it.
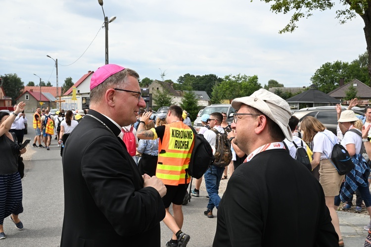
[[[103,1],[105,15],[117,16],[109,24],[109,63],[140,78],[240,73],[257,75],[262,86],[275,79],[302,87],[325,62],[351,62],[366,51],[363,20],[340,25],[339,4],[300,20],[292,34],[278,34],[290,16],[259,0]],[[50,55],[58,59],[59,86],[67,77],[77,82],[104,65],[103,21],[97,0],[1,0],[0,75],[16,73],[26,85],[38,84],[35,73],[55,86]]]

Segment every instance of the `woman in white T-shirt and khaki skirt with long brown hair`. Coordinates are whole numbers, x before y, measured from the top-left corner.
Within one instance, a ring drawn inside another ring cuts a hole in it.
[[[340,233],[339,218],[334,207],[334,199],[335,196],[339,195],[345,175],[339,175],[329,160],[332,148],[337,144],[337,137],[331,131],[328,131],[320,121],[311,116],[303,119],[300,129],[303,132],[304,142],[313,142],[312,169],[320,165],[320,184],[325,193],[325,202],[330,211],[331,223],[339,236],[339,246],[344,246]]]

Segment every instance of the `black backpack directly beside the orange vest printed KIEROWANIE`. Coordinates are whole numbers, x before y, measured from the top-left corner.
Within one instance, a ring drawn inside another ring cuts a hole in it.
[[[206,172],[207,168],[213,164],[215,157],[213,149],[203,135],[197,134],[192,126],[189,126],[189,128],[191,128],[194,135],[194,145],[190,155],[189,166],[185,171],[189,176],[199,179]]]

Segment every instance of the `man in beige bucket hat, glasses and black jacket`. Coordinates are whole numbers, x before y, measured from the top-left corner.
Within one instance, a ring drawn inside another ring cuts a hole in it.
[[[284,149],[283,139],[292,141],[287,102],[260,89],[232,107],[234,143],[248,155],[220,201],[213,247],[336,246],[321,185]]]

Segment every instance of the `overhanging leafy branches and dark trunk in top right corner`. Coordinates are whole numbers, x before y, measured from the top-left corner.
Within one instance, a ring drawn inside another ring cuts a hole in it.
[[[293,32],[296,22],[301,18],[308,18],[313,11],[330,9],[335,5],[334,0],[261,0],[271,4],[274,13],[292,14],[289,23],[279,33]],[[358,14],[364,21],[365,39],[368,51],[368,72],[371,76],[371,1],[370,0],[339,0],[345,7],[336,10],[336,18],[343,24],[352,20]]]

